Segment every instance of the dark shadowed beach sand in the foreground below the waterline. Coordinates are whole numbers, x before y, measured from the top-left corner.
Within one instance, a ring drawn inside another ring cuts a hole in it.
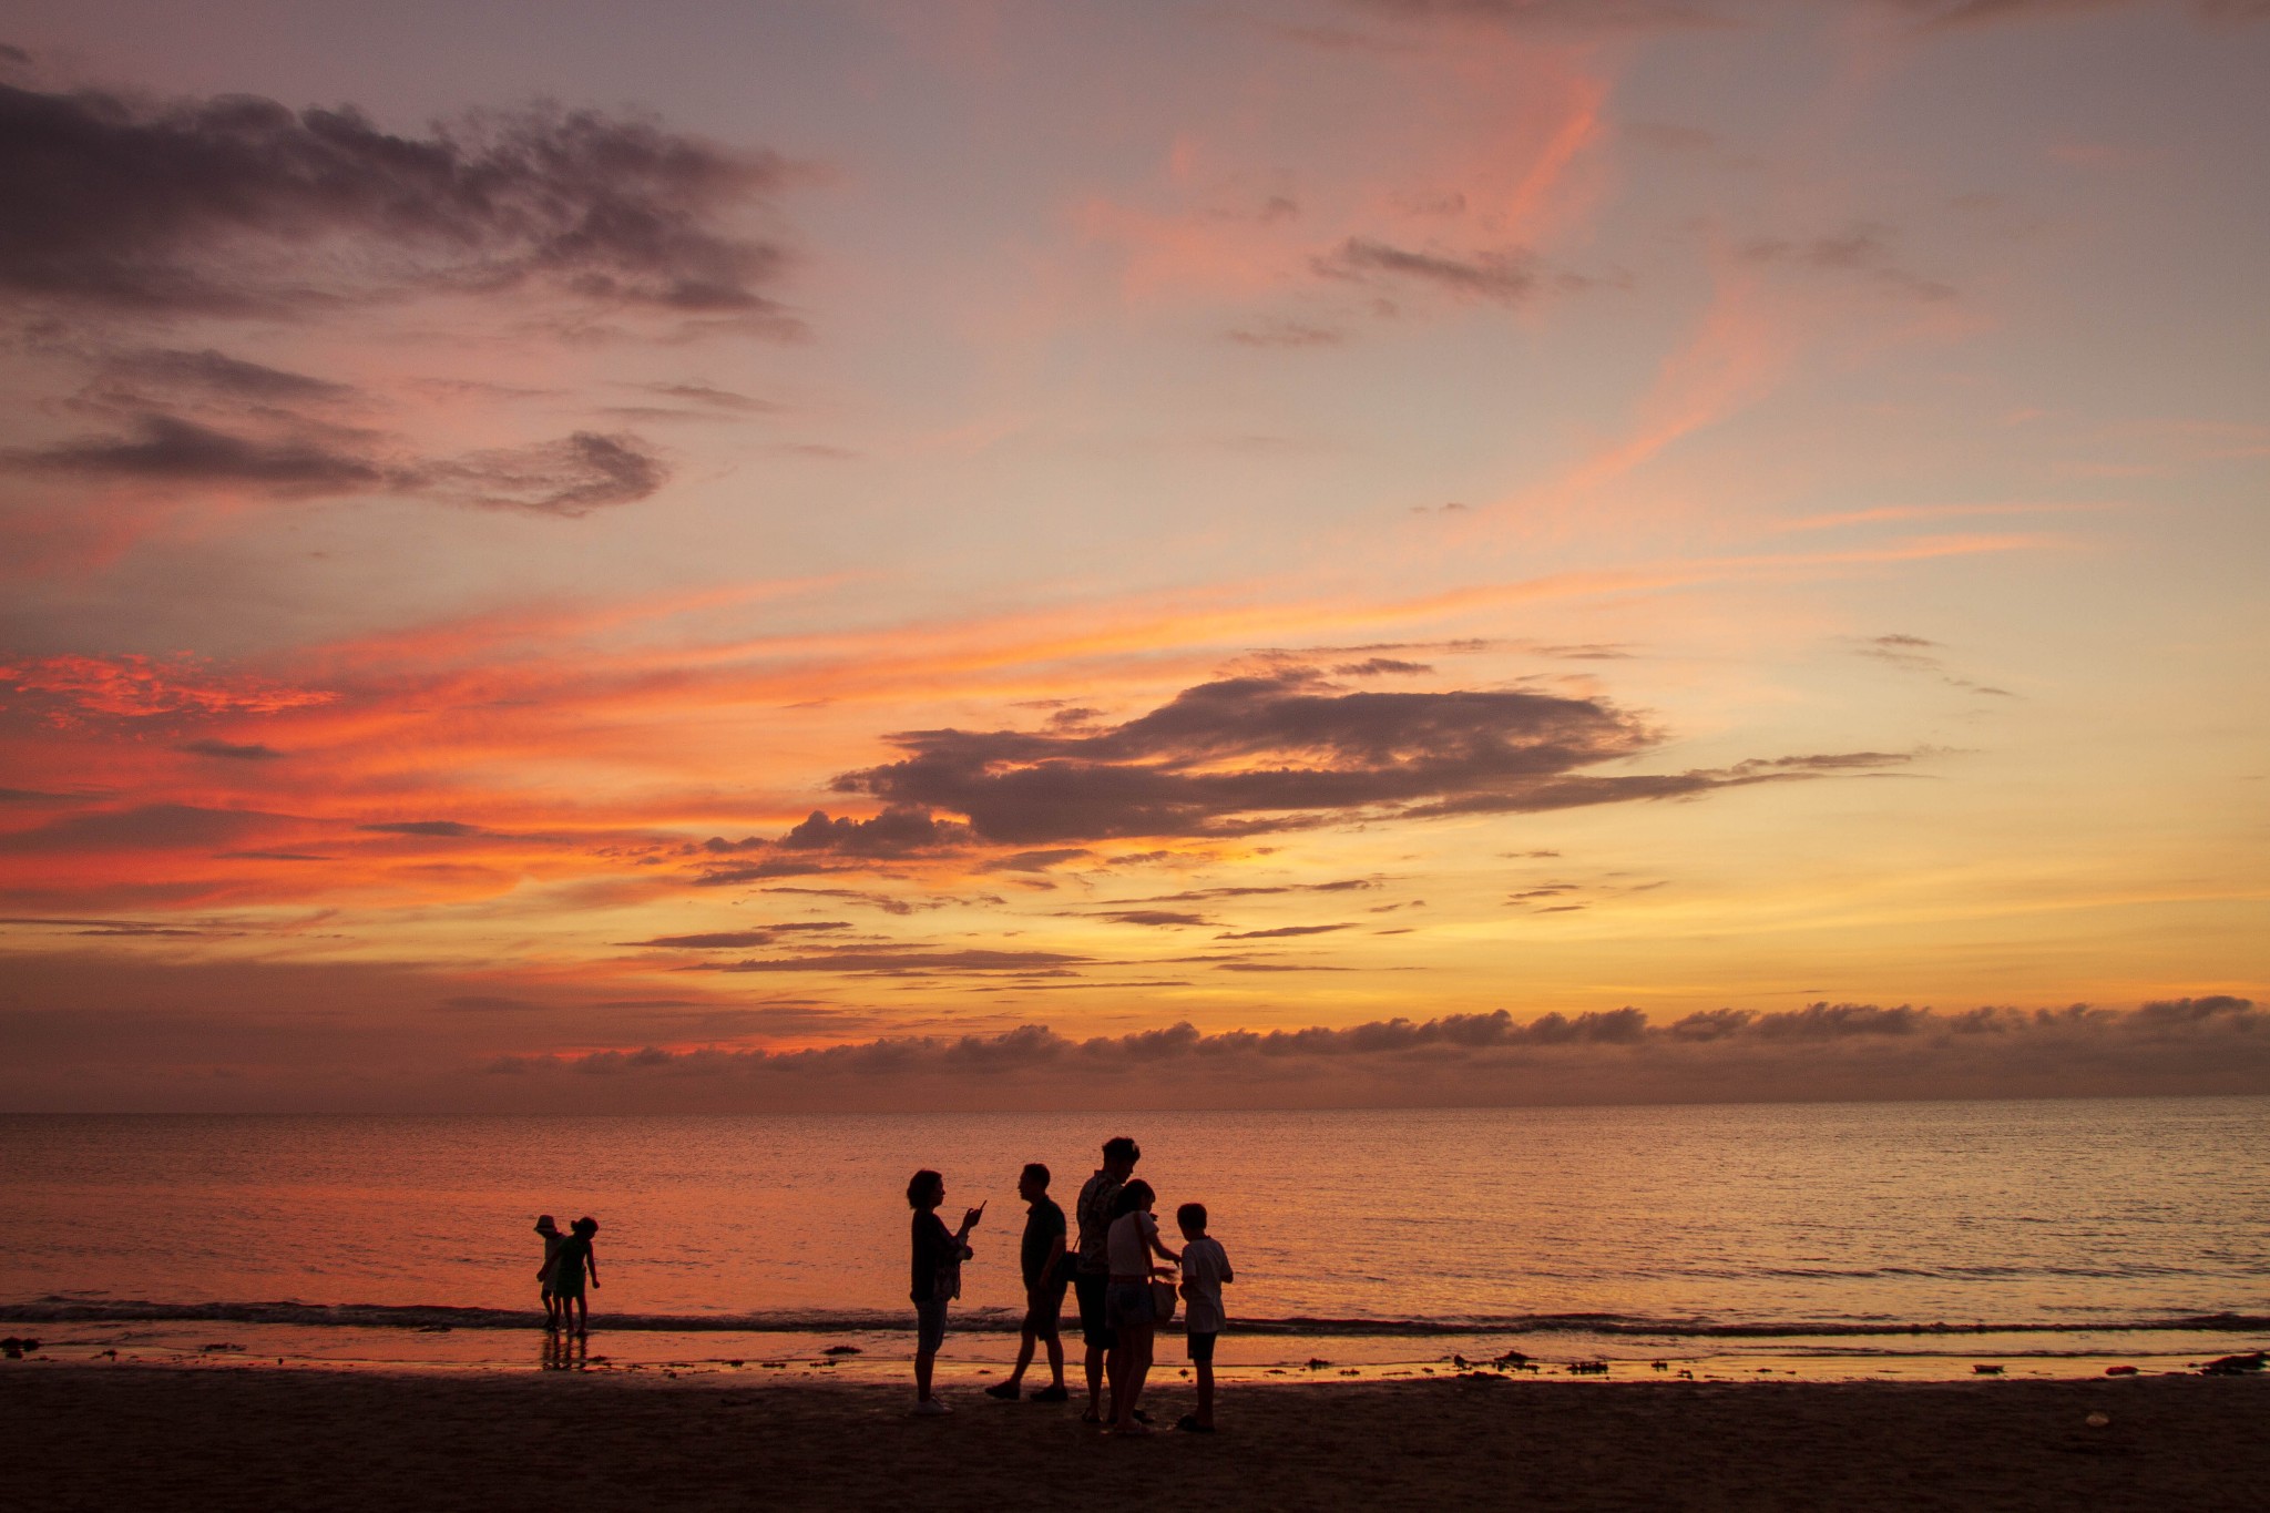
[[[23,1508],[2261,1508],[2270,1379],[1364,1381],[1224,1393],[1212,1438],[974,1388],[5,1363]],[[1167,1384],[1160,1425],[1189,1406]],[[2111,1422],[2091,1427],[2091,1413]]]

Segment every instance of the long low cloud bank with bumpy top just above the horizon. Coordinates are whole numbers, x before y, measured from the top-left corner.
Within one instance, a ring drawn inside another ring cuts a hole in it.
[[[856,1098],[858,1087],[951,1087],[953,1107],[1042,1107],[1035,1093],[1049,1100],[1044,1107],[2259,1093],[2270,1089],[2270,1014],[2245,998],[2172,1000],[2127,1014],[2079,1005],[1943,1014],[1814,1003],[1789,1012],[1712,1009],[1671,1023],[1653,1023],[1634,1007],[1530,1021],[1498,1009],[1262,1032],[1178,1023],[1069,1039],[1022,1025],[822,1050],[649,1046],[599,1055],[606,1071],[701,1075],[726,1087],[754,1080],[763,1091],[749,1096],[765,1098],[763,1107],[794,1100],[806,1084],[822,1100],[813,1107]],[[513,1071],[581,1071],[581,1062],[538,1057]],[[997,1091],[974,1093],[972,1077]]]

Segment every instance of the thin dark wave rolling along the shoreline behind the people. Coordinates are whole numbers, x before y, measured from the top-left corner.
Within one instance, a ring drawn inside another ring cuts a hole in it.
[[[41,1298],[0,1302],[7,1322],[232,1322],[350,1329],[538,1329],[533,1309],[456,1309],[443,1304],[318,1304],[318,1302],[93,1302]],[[1015,1334],[1022,1316],[1010,1309],[972,1309],[953,1325],[974,1334]],[[776,1313],[604,1313],[606,1329],[654,1334],[888,1334],[908,1327],[903,1311],[776,1311]],[[1612,1334],[1673,1338],[1891,1338],[1968,1334],[2254,1334],[2270,1329],[2265,1313],[2191,1313],[2170,1318],[2066,1322],[1898,1322],[1898,1320],[1768,1320],[1712,1322],[1641,1318],[1630,1313],[1500,1313],[1466,1318],[1237,1318],[1239,1334],[1294,1336],[1473,1336],[1473,1334]]]

